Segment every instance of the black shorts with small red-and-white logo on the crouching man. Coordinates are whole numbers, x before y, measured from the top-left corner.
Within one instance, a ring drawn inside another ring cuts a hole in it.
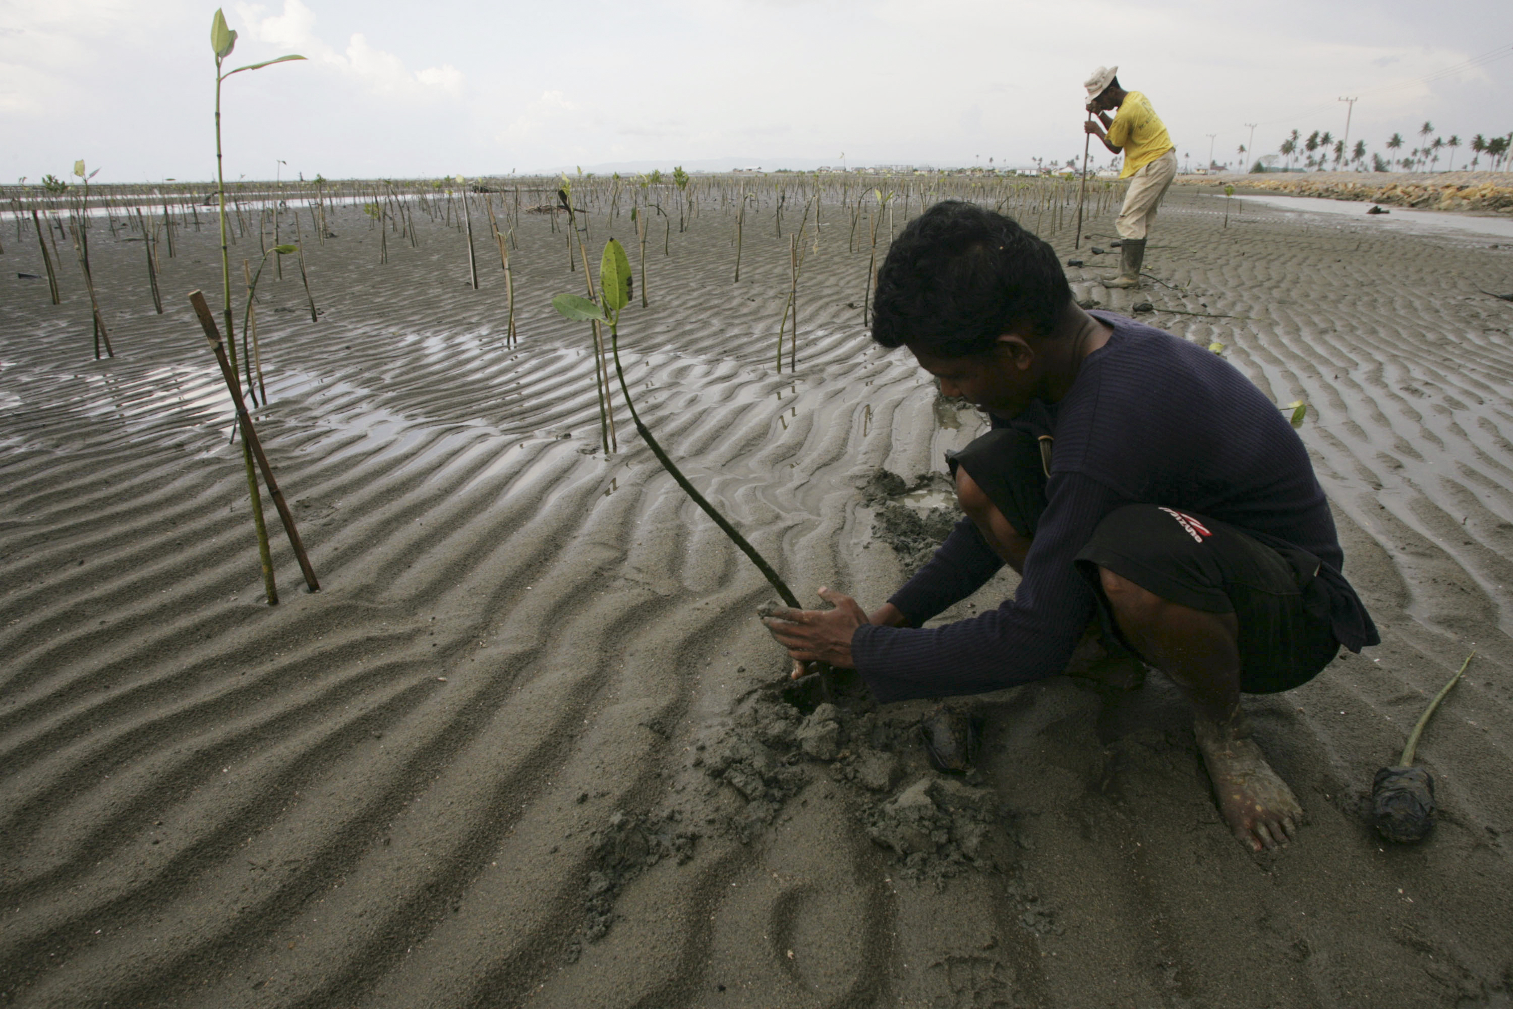
[[[1045,510],[1045,473],[1035,437],[999,428],[949,461],[953,473],[961,466],[971,475],[1015,531],[1033,536]],[[1103,595],[1100,567],[1162,599],[1204,613],[1233,613],[1241,690],[1250,694],[1300,687],[1339,652],[1318,558],[1301,549],[1274,549],[1226,522],[1154,504],[1126,505],[1098,523],[1077,554],[1077,567],[1098,599],[1098,623],[1126,647]]]

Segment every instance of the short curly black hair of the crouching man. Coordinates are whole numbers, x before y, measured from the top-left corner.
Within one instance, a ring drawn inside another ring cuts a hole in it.
[[[878,271],[871,339],[971,357],[999,336],[1050,336],[1071,303],[1055,250],[974,203],[937,203],[893,242]]]

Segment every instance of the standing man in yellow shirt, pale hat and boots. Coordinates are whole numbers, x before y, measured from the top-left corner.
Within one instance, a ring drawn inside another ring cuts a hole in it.
[[[1118,67],[1098,67],[1083,88],[1088,89],[1086,132],[1103,141],[1112,154],[1124,154],[1120,179],[1129,179],[1124,206],[1115,228],[1120,233],[1123,263],[1120,275],[1104,280],[1104,287],[1139,287],[1139,268],[1145,259],[1145,238],[1167,186],[1177,174],[1177,148],[1167,136],[1150,100],[1139,91],[1124,91],[1115,76]],[[1108,110],[1118,109],[1114,120]]]

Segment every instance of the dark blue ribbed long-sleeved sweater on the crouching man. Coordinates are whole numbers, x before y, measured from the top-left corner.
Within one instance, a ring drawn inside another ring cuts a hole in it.
[[[865,625],[852,657],[878,700],[1000,690],[1053,676],[1094,613],[1073,558],[1115,508],[1160,504],[1282,540],[1322,561],[1334,637],[1351,650],[1377,629],[1341,575],[1344,554],[1324,490],[1297,431],[1229,362],[1162,330],[1095,313],[1114,327],[1050,410],[1015,425],[1055,436],[1047,507],[1012,599],[938,628]],[[996,427],[1008,422],[994,421]],[[923,623],[980,588],[1002,567],[964,519],[891,599]]]

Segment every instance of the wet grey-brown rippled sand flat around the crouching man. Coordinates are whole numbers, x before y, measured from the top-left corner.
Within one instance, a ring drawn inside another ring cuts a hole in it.
[[[316,324],[295,271],[266,284],[259,431],[324,587],[303,591],[269,511],[272,608],[185,300],[219,287],[212,230],[165,256],[163,316],[141,244],[95,231],[117,349],[97,363],[77,268],[50,306],[8,222],[0,1000],[1508,1004],[1513,304],[1478,289],[1513,290],[1513,250],[1223,209],[1173,191],[1145,290],[1091,284],[1118,253],[1089,242],[1068,272],[1312,407],[1384,640],[1247,699],[1309,814],[1265,855],[1223,827],[1154,673],[979,699],[965,784],[924,764],[927,705],[787,705],[758,572],[623,404],[620,451],[595,448],[587,327],[548,304],[583,275],[546,216],[522,215],[517,348],[487,241],[474,290],[464,238],[419,212],[421,247],[390,238],[386,266],[353,209],[310,245]],[[770,207],[747,216],[738,284],[731,216],[673,224],[669,256],[654,233],[622,355],[648,424],[800,595],[876,605],[902,572],[868,478],[943,469],[980,421],[870,345],[840,207],[800,283],[797,372],[773,371],[784,219],[778,239]],[[592,228],[593,248],[631,231]],[[1085,231],[1106,248],[1112,222]],[[1472,647],[1419,747],[1439,826],[1392,847],[1363,818],[1371,776]]]

